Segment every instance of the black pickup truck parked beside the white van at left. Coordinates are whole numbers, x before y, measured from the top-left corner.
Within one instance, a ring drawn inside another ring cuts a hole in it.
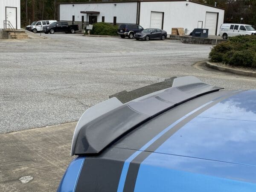
[[[45,30],[45,34],[54,34],[55,32],[75,33],[79,30],[78,25],[68,25],[67,21],[53,22]]]

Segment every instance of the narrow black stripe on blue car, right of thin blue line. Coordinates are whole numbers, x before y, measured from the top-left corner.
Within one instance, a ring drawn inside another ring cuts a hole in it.
[[[194,119],[199,114],[203,113],[207,109],[211,108],[212,106],[216,105],[217,103],[221,102],[224,99],[229,98],[232,95],[237,94],[236,93],[230,93],[227,96],[223,96],[220,99],[215,100],[214,102],[210,103],[209,105],[206,105],[205,107],[201,108],[200,110],[196,111],[195,113],[192,113],[185,119],[183,119],[181,122],[177,123],[173,128],[171,128],[169,131],[167,131],[165,134],[163,134],[158,140],[156,140],[154,143],[152,143],[148,148],[145,149],[145,151],[149,153],[140,153],[137,157],[134,158],[134,160],[131,161],[128,173],[125,180],[125,186],[124,186],[124,192],[132,192],[134,191],[137,175],[140,169],[140,164],[151,154],[153,153],[157,148],[160,147],[166,140],[168,140],[173,134],[175,134],[180,128],[182,128],[184,125],[186,125],[189,121]]]

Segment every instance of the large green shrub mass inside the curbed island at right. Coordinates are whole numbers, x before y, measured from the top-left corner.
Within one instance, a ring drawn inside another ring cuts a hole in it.
[[[209,58],[232,66],[256,68],[256,35],[230,37],[212,48]]]

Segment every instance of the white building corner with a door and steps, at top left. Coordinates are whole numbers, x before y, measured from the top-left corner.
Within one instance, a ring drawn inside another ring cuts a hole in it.
[[[5,21],[20,29],[20,0],[0,0],[0,29],[5,28]]]

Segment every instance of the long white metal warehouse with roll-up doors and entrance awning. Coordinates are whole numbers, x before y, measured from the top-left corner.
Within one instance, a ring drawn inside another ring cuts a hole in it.
[[[224,21],[224,9],[190,0],[138,0],[130,2],[60,3],[59,20],[95,23],[136,23],[143,28],[159,28],[172,33],[183,28],[187,34],[195,28],[209,29],[218,35]]]

